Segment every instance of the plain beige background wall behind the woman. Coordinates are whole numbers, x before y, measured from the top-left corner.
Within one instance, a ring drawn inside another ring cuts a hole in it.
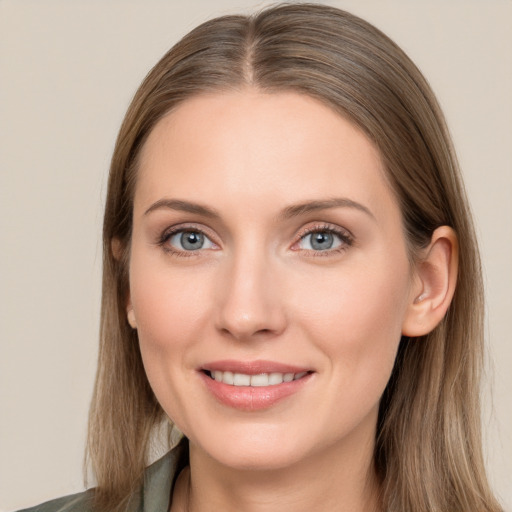
[[[512,510],[512,2],[328,3],[394,38],[445,109],[485,264],[488,465]],[[0,1],[0,511],[82,489],[106,172],[135,88],[199,22],[261,5]]]

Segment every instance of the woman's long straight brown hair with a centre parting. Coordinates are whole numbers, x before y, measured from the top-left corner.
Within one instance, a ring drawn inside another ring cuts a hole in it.
[[[360,18],[318,4],[284,4],[204,23],[150,71],[128,109],[105,208],[101,344],[89,423],[99,508],[122,510],[165,416],[147,381],[136,331],[126,321],[140,150],[178,103],[202,92],[247,86],[312,96],[366,133],[399,201],[412,262],[437,227],[448,225],[457,233],[453,302],[433,332],[400,343],[381,400],[375,464],[384,510],[501,510],[486,480],[481,449],[480,260],[442,112],[395,43]]]

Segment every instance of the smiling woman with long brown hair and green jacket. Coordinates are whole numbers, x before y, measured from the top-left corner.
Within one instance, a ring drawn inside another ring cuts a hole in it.
[[[98,486],[36,510],[501,510],[455,155],[366,22],[278,6],[163,57],[112,159],[102,308]]]

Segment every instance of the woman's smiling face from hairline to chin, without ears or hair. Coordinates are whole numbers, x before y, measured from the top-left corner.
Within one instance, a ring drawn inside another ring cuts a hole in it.
[[[371,452],[412,283],[378,152],[320,102],[202,95],[150,134],[129,310],[198,452],[238,468]]]

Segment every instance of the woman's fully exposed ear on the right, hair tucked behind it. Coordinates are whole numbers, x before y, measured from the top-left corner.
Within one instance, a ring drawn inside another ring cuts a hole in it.
[[[409,337],[431,332],[443,319],[455,292],[459,251],[457,235],[448,226],[437,228],[418,262],[402,334]]]

